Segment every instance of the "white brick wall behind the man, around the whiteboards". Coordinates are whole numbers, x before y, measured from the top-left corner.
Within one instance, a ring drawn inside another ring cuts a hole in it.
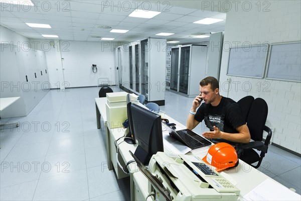
[[[247,7],[250,3],[251,9]],[[300,1],[248,1],[244,9],[242,4],[237,11],[232,8],[227,13],[224,44],[235,47],[238,42],[242,45],[244,42],[262,44],[299,41],[300,3]],[[223,48],[220,82],[221,86],[226,87],[227,79],[231,78],[232,88],[227,94],[227,89],[222,87],[221,94],[228,95],[234,100],[246,95],[265,99],[269,109],[267,125],[275,129],[272,142],[301,153],[300,83],[227,76],[228,48]]]

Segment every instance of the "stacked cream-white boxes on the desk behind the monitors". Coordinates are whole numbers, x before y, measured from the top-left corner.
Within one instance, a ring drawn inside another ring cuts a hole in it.
[[[105,107],[107,124],[110,129],[123,127],[122,123],[127,120],[126,95],[127,92],[124,91],[106,93],[107,103]],[[134,99],[137,98],[131,96],[131,100]]]

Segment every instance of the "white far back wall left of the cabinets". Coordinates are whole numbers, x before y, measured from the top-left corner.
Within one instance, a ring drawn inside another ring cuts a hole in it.
[[[114,50],[109,43],[60,41],[64,80],[67,87],[96,86],[98,78],[108,78],[115,84]],[[97,65],[93,73],[92,64]]]

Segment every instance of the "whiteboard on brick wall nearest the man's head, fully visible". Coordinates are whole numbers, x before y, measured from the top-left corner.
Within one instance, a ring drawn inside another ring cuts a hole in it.
[[[263,78],[268,45],[230,48],[227,75]]]

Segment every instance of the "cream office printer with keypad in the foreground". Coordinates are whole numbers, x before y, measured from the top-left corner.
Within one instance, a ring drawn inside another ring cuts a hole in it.
[[[179,156],[158,152],[150,159],[148,171],[157,183],[148,177],[148,192],[154,200],[239,200],[240,190],[204,161]]]

